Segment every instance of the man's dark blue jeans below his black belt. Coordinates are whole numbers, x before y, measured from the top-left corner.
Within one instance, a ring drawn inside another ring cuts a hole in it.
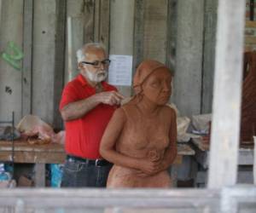
[[[61,187],[106,187],[112,164],[96,166],[66,160]]]

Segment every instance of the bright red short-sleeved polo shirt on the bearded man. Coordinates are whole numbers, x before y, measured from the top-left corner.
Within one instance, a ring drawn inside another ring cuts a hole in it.
[[[106,82],[102,82],[102,87],[104,91],[117,90]],[[96,89],[87,83],[83,75],[79,74],[77,78],[65,86],[62,92],[60,110],[68,103],[79,101],[95,94]],[[99,104],[90,112],[87,112],[83,118],[67,121],[65,123],[66,153],[81,158],[101,158],[99,153],[100,141],[115,109],[116,107],[110,105]]]

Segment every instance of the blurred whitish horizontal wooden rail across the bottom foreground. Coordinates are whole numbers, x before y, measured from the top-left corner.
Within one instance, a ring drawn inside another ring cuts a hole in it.
[[[2,189],[0,206],[26,212],[26,208],[72,208],[73,210],[144,209],[206,210],[237,212],[256,208],[256,187],[236,186],[216,189]],[[1,208],[0,208],[1,210]],[[75,212],[75,211],[73,211]],[[167,211],[166,211],[167,212]],[[182,211],[173,211],[182,212]]]

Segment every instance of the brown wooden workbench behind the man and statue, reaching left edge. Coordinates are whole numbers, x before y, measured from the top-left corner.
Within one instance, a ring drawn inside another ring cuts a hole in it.
[[[177,168],[183,162],[183,156],[194,155],[195,151],[187,144],[177,144],[177,158],[172,165],[171,176],[174,186],[177,184]],[[15,141],[14,163],[35,164],[35,186],[45,186],[45,164],[63,164],[66,153],[63,145],[49,143],[31,145],[26,141]],[[12,162],[11,141],[0,141],[0,161]]]

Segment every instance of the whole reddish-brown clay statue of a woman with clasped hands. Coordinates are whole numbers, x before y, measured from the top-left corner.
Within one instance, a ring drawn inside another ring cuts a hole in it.
[[[119,107],[101,141],[113,163],[107,187],[171,187],[167,172],[177,155],[176,113],[166,103],[172,74],[156,60],[144,60],[133,79],[136,95]]]

